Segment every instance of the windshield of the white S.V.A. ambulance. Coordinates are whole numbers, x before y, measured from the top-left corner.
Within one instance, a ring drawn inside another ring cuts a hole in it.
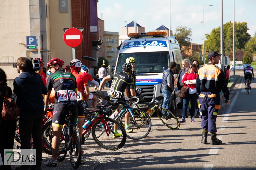
[[[135,58],[135,70],[137,73],[162,73],[170,63],[168,51],[121,53],[119,54],[116,73],[122,71],[122,65],[129,57]]]

